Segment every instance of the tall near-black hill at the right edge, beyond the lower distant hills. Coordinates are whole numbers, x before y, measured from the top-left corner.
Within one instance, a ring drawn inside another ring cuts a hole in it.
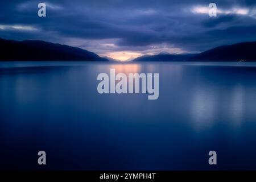
[[[193,60],[206,61],[256,61],[256,42],[243,42],[230,46],[220,46],[199,53]]]

